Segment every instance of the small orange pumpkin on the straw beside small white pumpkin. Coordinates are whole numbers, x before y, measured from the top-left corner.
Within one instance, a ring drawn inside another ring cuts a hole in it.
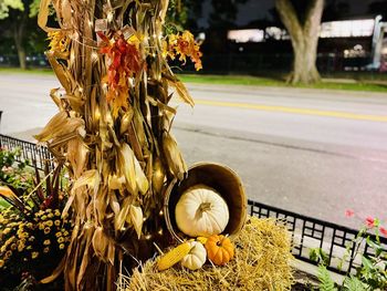
[[[217,266],[224,266],[233,257],[233,245],[228,237],[212,235],[206,245],[207,257]]]

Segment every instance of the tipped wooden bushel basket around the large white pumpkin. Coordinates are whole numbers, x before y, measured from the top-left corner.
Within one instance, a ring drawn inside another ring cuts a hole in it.
[[[207,187],[207,189],[213,189],[221,196],[221,198],[226,201],[228,209],[230,209],[229,219],[222,232],[230,235],[230,237],[238,235],[247,218],[248,204],[241,179],[227,166],[203,162],[191,166],[182,180],[178,183],[178,179],[174,179],[166,189],[164,215],[168,230],[172,237],[180,242],[187,238],[190,238],[182,231],[179,231],[176,208],[180,197],[187,193],[187,190],[196,189],[196,187]],[[187,209],[184,211],[187,211]],[[226,211],[223,211],[222,217],[217,217],[216,219],[226,221],[227,217],[224,212]],[[185,220],[182,219],[179,222]]]

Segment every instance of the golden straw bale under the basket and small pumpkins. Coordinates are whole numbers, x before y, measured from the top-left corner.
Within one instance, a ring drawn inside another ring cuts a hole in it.
[[[284,226],[250,217],[234,239],[236,258],[226,267],[207,263],[198,271],[176,266],[164,272],[157,260],[121,276],[119,291],[156,290],[290,290],[293,283],[291,242]]]

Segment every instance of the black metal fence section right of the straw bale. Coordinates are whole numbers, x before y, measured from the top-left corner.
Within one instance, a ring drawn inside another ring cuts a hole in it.
[[[322,249],[327,254],[327,269],[331,271],[355,272],[356,268],[362,264],[362,254],[375,254],[365,240],[358,245],[355,243],[358,230],[252,200],[249,200],[249,210],[251,216],[276,218],[286,224],[292,233],[292,253],[295,258],[316,264],[317,262],[310,258],[310,251],[315,248]],[[373,235],[370,237],[375,239]],[[387,250],[387,238],[380,237],[380,243]]]

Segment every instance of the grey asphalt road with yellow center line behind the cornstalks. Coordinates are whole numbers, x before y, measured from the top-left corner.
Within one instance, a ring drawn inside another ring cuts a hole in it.
[[[44,126],[55,86],[52,76],[0,74],[1,133],[29,138]],[[249,198],[279,208],[351,227],[387,219],[387,94],[188,87],[195,110],[179,104],[172,131],[189,164],[227,164]]]

